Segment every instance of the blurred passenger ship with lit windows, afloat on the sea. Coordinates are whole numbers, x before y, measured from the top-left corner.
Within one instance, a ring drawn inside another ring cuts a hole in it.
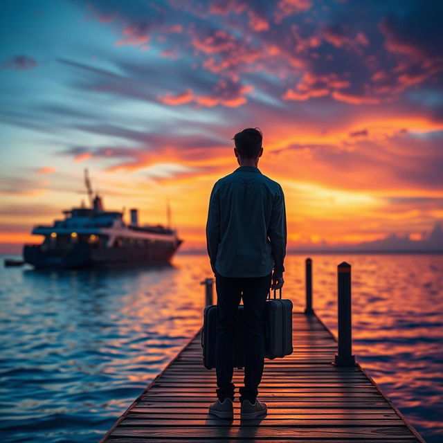
[[[138,224],[138,210],[130,210],[125,222],[124,211],[105,210],[100,195],[93,193],[88,171],[84,182],[89,207],[64,210],[64,219],[51,226],[35,226],[33,235],[43,235],[41,244],[24,245],[24,262],[35,269],[113,268],[170,264],[183,242],[177,230],[161,224]]]

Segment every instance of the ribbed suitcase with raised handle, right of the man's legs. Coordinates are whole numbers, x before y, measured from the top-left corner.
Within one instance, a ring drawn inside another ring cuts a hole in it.
[[[292,354],[292,302],[282,298],[282,289],[279,298],[275,296],[275,290],[271,298],[269,291],[264,309],[265,325],[265,356],[267,359],[275,359]]]

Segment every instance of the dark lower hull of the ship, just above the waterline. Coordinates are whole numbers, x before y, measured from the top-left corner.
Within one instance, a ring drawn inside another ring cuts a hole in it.
[[[69,250],[45,249],[41,245],[24,246],[24,261],[35,269],[114,268],[122,266],[169,264],[179,248],[177,244],[149,247],[91,248],[78,244]]]

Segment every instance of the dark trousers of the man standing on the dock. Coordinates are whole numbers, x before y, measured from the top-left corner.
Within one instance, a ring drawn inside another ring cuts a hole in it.
[[[237,323],[237,307],[243,298],[245,322],[244,387],[239,388],[240,401],[252,403],[258,394],[264,366],[264,304],[271,286],[271,274],[264,277],[231,278],[216,273],[217,339],[215,356],[217,397],[234,399],[233,336]]]

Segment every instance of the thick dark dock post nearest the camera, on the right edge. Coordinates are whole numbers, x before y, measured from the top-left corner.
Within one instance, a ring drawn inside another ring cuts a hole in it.
[[[334,365],[354,366],[351,323],[351,265],[342,262],[338,271],[338,354]]]

